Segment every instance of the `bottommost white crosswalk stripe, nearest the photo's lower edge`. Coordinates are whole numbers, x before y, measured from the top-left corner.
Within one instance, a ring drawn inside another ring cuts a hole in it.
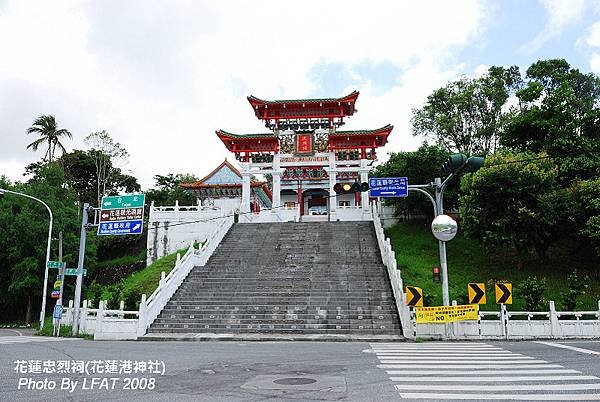
[[[475,400],[517,400],[517,401],[598,401],[600,394],[436,394],[410,393],[400,394],[403,398],[412,399],[475,399]]]

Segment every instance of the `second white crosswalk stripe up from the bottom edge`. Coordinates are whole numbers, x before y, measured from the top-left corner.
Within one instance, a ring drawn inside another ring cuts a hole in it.
[[[423,385],[396,385],[400,391],[423,391]],[[427,385],[427,391],[586,391],[598,390],[596,384],[510,384],[510,385]]]

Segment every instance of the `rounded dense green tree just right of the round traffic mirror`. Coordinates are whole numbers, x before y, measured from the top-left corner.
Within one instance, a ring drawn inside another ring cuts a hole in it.
[[[557,166],[544,155],[499,152],[461,181],[464,232],[487,247],[544,255],[554,237],[552,204]]]

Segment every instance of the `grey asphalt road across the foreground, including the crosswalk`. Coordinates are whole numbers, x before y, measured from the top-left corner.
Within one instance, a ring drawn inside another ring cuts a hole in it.
[[[600,399],[600,341],[94,342],[0,332],[2,401]]]

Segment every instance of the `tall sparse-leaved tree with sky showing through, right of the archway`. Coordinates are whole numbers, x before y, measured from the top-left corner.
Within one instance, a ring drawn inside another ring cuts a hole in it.
[[[494,152],[505,124],[503,107],[520,86],[518,67],[491,67],[479,78],[463,77],[435,90],[413,110],[414,135],[423,135],[450,152]]]

